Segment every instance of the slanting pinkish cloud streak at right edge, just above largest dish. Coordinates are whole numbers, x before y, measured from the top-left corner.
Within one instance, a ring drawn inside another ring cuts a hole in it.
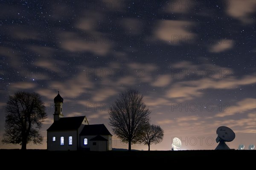
[[[250,111],[253,109],[256,109],[256,99],[246,98],[237,102],[236,105],[231,106],[230,108],[227,108],[226,111],[216,114],[215,117],[232,116],[236,113],[246,113],[247,111]]]

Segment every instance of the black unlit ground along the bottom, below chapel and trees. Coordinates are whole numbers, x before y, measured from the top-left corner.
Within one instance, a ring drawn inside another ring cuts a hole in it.
[[[169,166],[179,167],[201,167],[207,164],[210,167],[229,167],[237,163],[247,164],[254,162],[256,150],[178,150],[178,151],[47,151],[47,150],[0,150],[3,166],[9,164],[22,168],[27,164],[36,164],[35,169],[44,167],[78,167],[93,166],[105,167],[106,165],[123,169],[125,167],[147,166]],[[253,161],[254,160],[254,161]],[[122,168],[120,168],[120,166]],[[209,168],[208,166],[208,168]],[[34,167],[34,166],[33,166]],[[215,168],[217,168],[215,167]],[[65,168],[65,169],[66,169]],[[206,168],[206,167],[205,167]],[[208,169],[207,168],[207,169]],[[31,168],[29,168],[31,169]],[[52,168],[50,168],[52,169]],[[86,169],[86,168],[85,168]],[[96,168],[99,169],[99,168]],[[113,169],[113,168],[111,168]],[[126,169],[126,168],[125,168]],[[157,168],[158,169],[158,168]],[[168,168],[169,169],[169,168]],[[182,168],[183,169],[183,168]],[[59,169],[58,169],[59,170]]]

